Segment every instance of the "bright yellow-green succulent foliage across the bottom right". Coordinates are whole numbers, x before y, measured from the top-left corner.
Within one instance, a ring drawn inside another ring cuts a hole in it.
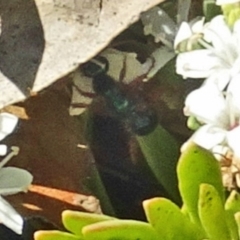
[[[62,222],[71,233],[38,231],[35,240],[239,240],[240,197],[233,191],[225,202],[213,155],[189,145],[177,174],[182,209],[165,198],[145,200],[148,223],[66,210]]]

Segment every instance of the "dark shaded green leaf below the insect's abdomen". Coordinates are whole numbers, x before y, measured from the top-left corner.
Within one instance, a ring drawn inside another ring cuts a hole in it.
[[[157,180],[180,203],[176,175],[179,145],[175,139],[160,125],[152,133],[136,138]]]

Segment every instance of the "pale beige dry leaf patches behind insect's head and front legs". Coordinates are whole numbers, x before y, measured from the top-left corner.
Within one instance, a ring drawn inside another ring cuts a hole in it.
[[[124,65],[126,66],[125,74],[122,79],[125,84],[128,84],[138,76],[147,73],[152,64],[151,61],[146,61],[144,64],[141,64],[136,58],[136,53],[121,52],[112,48],[107,48],[100,54],[100,56],[105,57],[108,62],[111,63],[109,64],[108,75],[115,81],[120,81],[121,71],[123,70]],[[73,83],[72,104],[74,106],[70,106],[69,112],[70,115],[80,115],[85,111],[86,106],[92,102],[93,98],[90,96],[94,94],[92,79],[84,76],[84,73],[82,73],[80,69],[77,69],[73,73]],[[79,90],[84,92],[85,95],[81,94]]]

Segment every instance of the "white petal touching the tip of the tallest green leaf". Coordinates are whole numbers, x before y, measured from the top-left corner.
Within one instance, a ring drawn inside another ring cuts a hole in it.
[[[225,136],[225,130],[211,124],[206,124],[200,127],[190,139],[199,146],[211,150],[214,146],[222,143]]]

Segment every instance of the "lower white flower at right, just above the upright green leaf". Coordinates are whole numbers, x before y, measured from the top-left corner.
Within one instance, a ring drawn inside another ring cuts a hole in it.
[[[234,100],[232,92],[222,92],[214,84],[205,84],[188,95],[184,112],[204,124],[190,141],[208,150],[218,145],[227,146],[240,161],[240,109],[234,107]]]

